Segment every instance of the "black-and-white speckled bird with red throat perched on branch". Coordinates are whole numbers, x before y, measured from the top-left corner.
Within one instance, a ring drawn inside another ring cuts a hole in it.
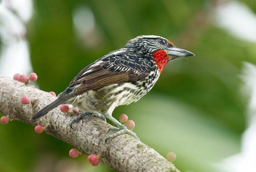
[[[138,101],[151,90],[167,63],[187,56],[194,54],[175,47],[161,36],[137,36],[123,48],[86,66],[57,100],[38,111],[31,120],[44,116],[61,104],[72,104],[84,113],[71,120],[71,128],[73,123],[92,116],[104,121],[108,118],[118,128],[109,129],[115,132],[105,139],[106,143],[108,139],[124,133],[140,140],[135,132],[112,117],[113,110]]]

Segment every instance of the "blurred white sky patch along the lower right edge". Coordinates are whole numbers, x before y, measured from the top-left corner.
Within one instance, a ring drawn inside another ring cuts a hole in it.
[[[241,152],[214,164],[215,167],[226,172],[256,171],[256,66],[244,63],[241,78],[244,81],[242,91],[249,96],[245,116],[248,127],[242,135]]]

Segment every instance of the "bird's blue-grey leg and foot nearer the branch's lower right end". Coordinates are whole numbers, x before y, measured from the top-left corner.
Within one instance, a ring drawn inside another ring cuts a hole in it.
[[[110,138],[114,138],[116,136],[119,136],[121,134],[129,134],[130,136],[137,138],[138,140],[140,140],[137,136],[135,132],[132,132],[131,130],[128,130],[126,128],[126,126],[122,125],[121,123],[119,123],[114,117],[112,116],[106,116],[106,118],[108,118],[110,121],[112,121],[112,123],[116,124],[116,126],[118,128],[110,128],[108,131],[116,131],[114,134],[109,135],[105,142],[107,143],[107,140]]]

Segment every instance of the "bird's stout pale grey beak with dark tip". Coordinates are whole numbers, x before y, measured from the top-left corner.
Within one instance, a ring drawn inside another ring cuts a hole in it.
[[[168,48],[167,55],[170,57],[170,61],[176,60],[176,59],[182,58],[182,57],[195,56],[193,53],[191,53],[185,49],[179,49],[176,47]]]

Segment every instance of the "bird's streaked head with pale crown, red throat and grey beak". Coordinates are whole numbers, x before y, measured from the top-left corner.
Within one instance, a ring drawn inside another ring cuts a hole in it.
[[[132,49],[136,53],[148,56],[155,63],[161,72],[164,65],[178,58],[195,56],[193,53],[176,48],[171,41],[155,35],[138,36],[124,46],[124,48]]]

